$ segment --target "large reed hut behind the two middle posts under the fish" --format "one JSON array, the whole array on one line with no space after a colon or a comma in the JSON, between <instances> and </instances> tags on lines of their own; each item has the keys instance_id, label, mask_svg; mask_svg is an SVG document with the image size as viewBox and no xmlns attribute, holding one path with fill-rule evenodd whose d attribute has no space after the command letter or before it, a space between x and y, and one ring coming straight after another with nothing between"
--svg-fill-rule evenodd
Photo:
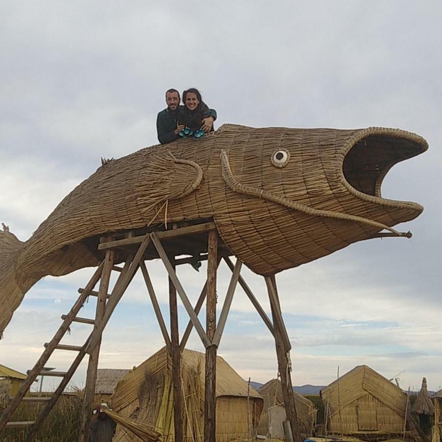
<instances>
[{"instance_id":1,"label":"large reed hut behind the two middle posts under the fish","mask_svg":"<svg viewBox=\"0 0 442 442\"><path fill-rule=\"evenodd\" d=\"M204 439L204 372L205 355L184 350L181 377L184 397L184 441ZM128 373L116 386L112 395L113 410L155 428L162 441L172 442L173 388L171 359L166 347L155 353ZM221 357L217 357L216 379L216 441L247 439L254 432L263 407L263 399L256 390ZM119 424L113 442L133 441Z\"/></svg>"}]
</instances>

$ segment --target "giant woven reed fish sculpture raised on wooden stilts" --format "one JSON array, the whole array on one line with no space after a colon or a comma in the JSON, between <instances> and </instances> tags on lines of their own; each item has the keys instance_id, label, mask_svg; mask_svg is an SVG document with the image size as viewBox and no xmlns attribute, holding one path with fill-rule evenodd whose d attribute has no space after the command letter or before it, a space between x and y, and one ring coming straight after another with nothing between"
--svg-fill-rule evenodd
<instances>
[{"instance_id":1,"label":"giant woven reed fish sculpture raised on wooden stilts","mask_svg":"<svg viewBox=\"0 0 442 442\"><path fill-rule=\"evenodd\" d=\"M41 277L98 264L107 232L212 218L251 270L270 275L417 217L381 197L394 164L428 148L398 129L255 129L226 124L113 160L69 193L26 242L0 232L0 331ZM95 243L96 244L96 243Z\"/></svg>"}]
</instances>

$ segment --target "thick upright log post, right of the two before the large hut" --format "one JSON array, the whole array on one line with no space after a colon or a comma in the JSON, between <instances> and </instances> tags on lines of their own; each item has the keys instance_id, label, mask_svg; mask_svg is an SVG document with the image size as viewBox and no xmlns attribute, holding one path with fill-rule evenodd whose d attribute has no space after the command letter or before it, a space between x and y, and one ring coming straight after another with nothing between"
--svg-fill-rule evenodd
<instances>
[{"instance_id":1,"label":"thick upright log post, right of the two before the large hut","mask_svg":"<svg viewBox=\"0 0 442 442\"><path fill-rule=\"evenodd\" d=\"M213 342L217 327L217 232L209 232L207 260L207 300L206 300L206 333ZM204 441L215 442L216 435L216 372L217 347L206 348L205 398L204 398Z\"/></svg>"}]
</instances>

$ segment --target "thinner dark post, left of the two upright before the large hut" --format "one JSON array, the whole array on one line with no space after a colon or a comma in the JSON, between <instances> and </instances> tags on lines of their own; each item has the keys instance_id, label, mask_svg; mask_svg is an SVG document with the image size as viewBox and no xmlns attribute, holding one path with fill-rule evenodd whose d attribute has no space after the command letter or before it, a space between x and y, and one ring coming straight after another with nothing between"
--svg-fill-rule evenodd
<instances>
[{"instance_id":1,"label":"thinner dark post, left of the two upright before the large hut","mask_svg":"<svg viewBox=\"0 0 442 442\"><path fill-rule=\"evenodd\" d=\"M169 258L175 270L174 257ZM169 276L169 307L170 307L170 343L172 359L172 385L173 385L173 419L175 427L175 442L183 441L183 396L181 389L181 350L178 333L178 304L176 289Z\"/></svg>"}]
</instances>

